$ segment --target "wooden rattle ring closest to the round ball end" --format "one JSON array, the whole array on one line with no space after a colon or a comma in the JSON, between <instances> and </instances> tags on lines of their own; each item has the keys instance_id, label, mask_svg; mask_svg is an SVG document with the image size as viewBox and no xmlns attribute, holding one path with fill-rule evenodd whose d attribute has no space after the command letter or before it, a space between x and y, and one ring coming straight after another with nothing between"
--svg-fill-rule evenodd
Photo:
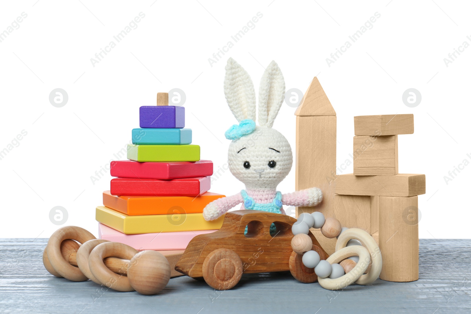
<instances>
[{"instance_id":1,"label":"wooden rattle ring closest to the round ball end","mask_svg":"<svg viewBox=\"0 0 471 314\"><path fill-rule=\"evenodd\" d=\"M138 250L131 248L129 245L118 242L104 242L98 244L90 253L89 269L93 276L101 282L106 288L112 288L118 291L133 291L129 279L124 274L127 273L130 263L126 263L121 274L116 274L108 269L103 262L104 258L117 257L131 259Z\"/></svg>"}]
</instances>

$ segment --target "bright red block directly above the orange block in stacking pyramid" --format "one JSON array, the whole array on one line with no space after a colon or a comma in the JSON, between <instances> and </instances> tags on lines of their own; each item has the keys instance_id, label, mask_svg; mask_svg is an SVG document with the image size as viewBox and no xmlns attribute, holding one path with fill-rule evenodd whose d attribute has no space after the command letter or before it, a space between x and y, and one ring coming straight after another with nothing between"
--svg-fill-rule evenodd
<instances>
[{"instance_id":1,"label":"bright red block directly above the orange block in stacking pyramid","mask_svg":"<svg viewBox=\"0 0 471 314\"><path fill-rule=\"evenodd\" d=\"M112 195L129 196L198 196L211 188L211 177L172 180L114 178L111 179Z\"/></svg>"}]
</instances>

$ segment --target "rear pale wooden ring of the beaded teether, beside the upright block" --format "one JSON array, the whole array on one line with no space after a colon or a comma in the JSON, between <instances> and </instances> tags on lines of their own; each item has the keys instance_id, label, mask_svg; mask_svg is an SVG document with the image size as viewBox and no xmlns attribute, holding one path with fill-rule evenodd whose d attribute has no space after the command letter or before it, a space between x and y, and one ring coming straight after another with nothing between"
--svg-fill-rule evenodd
<instances>
[{"instance_id":1,"label":"rear pale wooden ring of the beaded teether, beside the upright block","mask_svg":"<svg viewBox=\"0 0 471 314\"><path fill-rule=\"evenodd\" d=\"M355 283L362 285L373 283L376 279L378 279L382 269L381 250L371 235L369 235L365 230L358 228L350 228L342 232L339 236L339 239L337 239L335 250L337 251L345 248L347 242L349 242L351 239L356 239L361 242L361 244L370 253L372 261L371 269L368 274L362 275Z\"/></svg>"}]
</instances>

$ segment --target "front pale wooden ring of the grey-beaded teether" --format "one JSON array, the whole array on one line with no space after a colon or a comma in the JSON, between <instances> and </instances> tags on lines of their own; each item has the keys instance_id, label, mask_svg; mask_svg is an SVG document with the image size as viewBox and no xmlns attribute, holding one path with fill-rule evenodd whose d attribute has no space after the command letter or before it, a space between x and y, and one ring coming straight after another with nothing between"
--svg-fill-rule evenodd
<instances>
[{"instance_id":1,"label":"front pale wooden ring of the grey-beaded teether","mask_svg":"<svg viewBox=\"0 0 471 314\"><path fill-rule=\"evenodd\" d=\"M370 264L370 253L366 250L363 246L360 245L352 245L341 250L335 251L329 258L327 258L327 262L330 264L338 263L345 258L349 258L350 256L358 256L358 263L353 267L351 271L343 276L335 279L327 278L320 278L318 277L317 280L319 284L324 289L328 290L339 290L344 289L353 282L356 282L358 278L360 278L364 273L368 265Z\"/></svg>"}]
</instances>

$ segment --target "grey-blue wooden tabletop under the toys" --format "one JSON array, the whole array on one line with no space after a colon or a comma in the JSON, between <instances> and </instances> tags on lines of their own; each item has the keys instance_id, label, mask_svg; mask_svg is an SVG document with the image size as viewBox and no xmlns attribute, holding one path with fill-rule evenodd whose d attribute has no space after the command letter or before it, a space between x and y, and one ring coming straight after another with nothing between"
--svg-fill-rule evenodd
<instances>
[{"instance_id":1,"label":"grey-blue wooden tabletop under the toys","mask_svg":"<svg viewBox=\"0 0 471 314\"><path fill-rule=\"evenodd\" d=\"M244 275L215 291L182 276L155 296L54 277L42 265L46 242L0 239L0 313L471 313L471 240L421 240L416 282L334 292L284 272Z\"/></svg>"}]
</instances>

